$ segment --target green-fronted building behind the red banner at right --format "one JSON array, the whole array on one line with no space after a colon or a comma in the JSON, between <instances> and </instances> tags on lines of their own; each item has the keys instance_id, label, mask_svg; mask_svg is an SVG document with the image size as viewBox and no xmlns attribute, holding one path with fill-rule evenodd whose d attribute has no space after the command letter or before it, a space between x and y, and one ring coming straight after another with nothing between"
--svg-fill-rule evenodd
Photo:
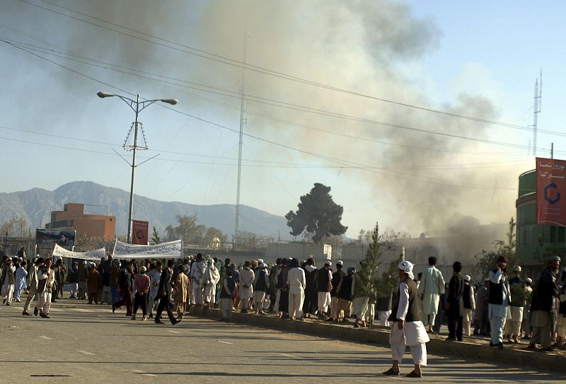
<instances>
[{"instance_id":1,"label":"green-fronted building behind the red banner at right","mask_svg":"<svg viewBox=\"0 0 566 384\"><path fill-rule=\"evenodd\" d=\"M522 265L541 265L550 255L565 255L566 227L536 223L536 170L519 176L516 209L516 254Z\"/></svg>"}]
</instances>

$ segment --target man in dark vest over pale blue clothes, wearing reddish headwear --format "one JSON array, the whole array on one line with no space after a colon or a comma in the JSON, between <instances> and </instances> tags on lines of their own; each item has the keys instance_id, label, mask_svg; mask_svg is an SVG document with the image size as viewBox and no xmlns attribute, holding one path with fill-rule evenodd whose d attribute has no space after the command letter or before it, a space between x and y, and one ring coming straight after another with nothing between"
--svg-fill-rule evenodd
<instances>
[{"instance_id":1,"label":"man in dark vest over pale blue clothes, wearing reddish headwear","mask_svg":"<svg viewBox=\"0 0 566 384\"><path fill-rule=\"evenodd\" d=\"M491 327L490 347L503 349L503 327L511 319L511 293L507 281L507 257L499 256L495 269L490 271L490 293L487 298Z\"/></svg>"}]
</instances>

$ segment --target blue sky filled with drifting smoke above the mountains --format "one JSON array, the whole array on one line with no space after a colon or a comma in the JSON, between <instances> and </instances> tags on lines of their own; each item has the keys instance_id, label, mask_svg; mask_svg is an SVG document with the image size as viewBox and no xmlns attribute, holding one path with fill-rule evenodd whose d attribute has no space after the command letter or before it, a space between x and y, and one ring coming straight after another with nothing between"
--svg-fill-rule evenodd
<instances>
[{"instance_id":1,"label":"blue sky filled with drifting smoke above the mountains","mask_svg":"<svg viewBox=\"0 0 566 384\"><path fill-rule=\"evenodd\" d=\"M149 150L136 194L235 204L243 116L241 204L284 216L322 182L350 237L376 221L446 235L515 216L541 71L536 155L553 143L566 157L562 1L0 8L0 192L76 180L129 190L134 112L98 91L179 100L139 114Z\"/></svg>"}]
</instances>

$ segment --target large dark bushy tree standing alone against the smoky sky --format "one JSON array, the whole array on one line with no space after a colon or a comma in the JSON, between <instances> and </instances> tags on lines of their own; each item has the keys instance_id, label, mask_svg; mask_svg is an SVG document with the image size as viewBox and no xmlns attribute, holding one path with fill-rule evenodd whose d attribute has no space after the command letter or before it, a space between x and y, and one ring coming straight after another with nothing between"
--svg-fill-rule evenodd
<instances>
[{"instance_id":1,"label":"large dark bushy tree standing alone against the smoky sky","mask_svg":"<svg viewBox=\"0 0 566 384\"><path fill-rule=\"evenodd\" d=\"M313 242L320 243L325 236L342 235L348 227L342 226L344 208L336 204L330 196L330 187L318 182L311 192L301 196L298 210L285 215L291 235L303 235Z\"/></svg>"}]
</instances>

